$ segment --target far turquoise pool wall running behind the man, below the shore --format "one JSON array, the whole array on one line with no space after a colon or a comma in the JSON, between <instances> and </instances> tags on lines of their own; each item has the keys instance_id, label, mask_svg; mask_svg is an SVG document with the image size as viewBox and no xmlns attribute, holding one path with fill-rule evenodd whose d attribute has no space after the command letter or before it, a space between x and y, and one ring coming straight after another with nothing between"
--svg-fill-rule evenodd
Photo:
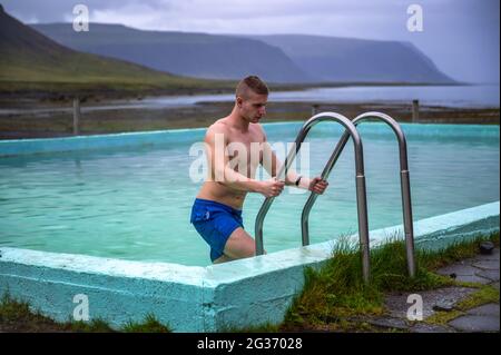
<instances>
[{"instance_id":1,"label":"far turquoise pool wall running behind the man, below the shore","mask_svg":"<svg viewBox=\"0 0 501 355\"><path fill-rule=\"evenodd\" d=\"M276 122L264 124L269 139L273 140L274 132L289 135L294 141L303 122ZM475 139L499 140L499 126L487 125L422 125L401 124L405 136L410 139L420 137L440 137L441 140L458 140L475 137ZM425 127L425 129L423 129ZM364 137L375 135L395 139L393 131L386 124L366 122L360 128ZM322 130L312 132L312 137L333 137L343 134L341 125L325 125ZM169 129L159 131L140 131L114 135L78 136L65 138L42 139L13 139L0 140L0 157L18 156L27 154L47 154L56 151L92 150L105 148L122 148L151 145L176 145L181 141L202 141L205 128L198 129Z\"/></svg>"}]
</instances>

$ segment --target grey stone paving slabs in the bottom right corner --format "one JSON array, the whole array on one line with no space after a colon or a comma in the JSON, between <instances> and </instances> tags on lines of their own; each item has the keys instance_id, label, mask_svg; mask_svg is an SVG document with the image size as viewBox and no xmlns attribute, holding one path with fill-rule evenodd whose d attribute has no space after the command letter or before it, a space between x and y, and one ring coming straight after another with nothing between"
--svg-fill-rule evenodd
<instances>
[{"instance_id":1,"label":"grey stone paving slabs in the bottom right corner","mask_svg":"<svg viewBox=\"0 0 501 355\"><path fill-rule=\"evenodd\" d=\"M480 252L480 250L479 250ZM438 274L449 276L458 282L489 285L499 290L500 250L478 253L474 257L459 260L436 270ZM463 286L448 286L436 289L419 292L422 297L423 319L409 321L409 294L389 293L384 297L387 313L382 316L362 316L358 323L371 324L386 332L410 333L493 333L500 328L499 299L480 306L464 308L461 302L478 292L478 288ZM453 315L452 317L450 315ZM450 319L441 324L430 322L433 316L448 316Z\"/></svg>"}]
</instances>

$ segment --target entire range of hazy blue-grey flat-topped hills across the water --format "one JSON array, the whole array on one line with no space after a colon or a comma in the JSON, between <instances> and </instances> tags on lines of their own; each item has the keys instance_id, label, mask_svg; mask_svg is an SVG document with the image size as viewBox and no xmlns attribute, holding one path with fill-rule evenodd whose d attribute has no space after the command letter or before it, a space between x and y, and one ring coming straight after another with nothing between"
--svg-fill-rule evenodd
<instances>
[{"instance_id":1,"label":"entire range of hazy blue-grey flat-topped hills across the water","mask_svg":"<svg viewBox=\"0 0 501 355\"><path fill-rule=\"evenodd\" d=\"M77 50L190 77L257 73L275 82L454 82L406 42L143 31L101 23L90 23L89 32L75 32L69 23L32 27Z\"/></svg>"}]
</instances>

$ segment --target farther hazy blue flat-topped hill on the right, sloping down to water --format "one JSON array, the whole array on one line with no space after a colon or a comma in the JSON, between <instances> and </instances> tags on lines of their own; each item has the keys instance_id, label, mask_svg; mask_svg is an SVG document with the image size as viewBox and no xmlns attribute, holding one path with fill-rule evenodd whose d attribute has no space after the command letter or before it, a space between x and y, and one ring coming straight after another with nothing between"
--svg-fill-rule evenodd
<instances>
[{"instance_id":1,"label":"farther hazy blue flat-topped hill on the right, sloping down to water","mask_svg":"<svg viewBox=\"0 0 501 355\"><path fill-rule=\"evenodd\" d=\"M254 36L321 81L453 83L410 42L322 36Z\"/></svg>"}]
</instances>

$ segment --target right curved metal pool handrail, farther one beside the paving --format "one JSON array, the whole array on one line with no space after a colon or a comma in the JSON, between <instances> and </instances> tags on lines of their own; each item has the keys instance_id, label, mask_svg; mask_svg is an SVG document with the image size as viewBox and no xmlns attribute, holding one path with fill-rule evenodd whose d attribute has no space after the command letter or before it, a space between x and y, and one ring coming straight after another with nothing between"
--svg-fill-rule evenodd
<instances>
[{"instance_id":1,"label":"right curved metal pool handrail, farther one beside the paving","mask_svg":"<svg viewBox=\"0 0 501 355\"><path fill-rule=\"evenodd\" d=\"M352 122L357 126L360 122L367 118L379 118L385 124L387 124L396 135L399 140L400 150L400 178L401 178L401 190L402 190L402 210L404 220L404 231L405 231L405 249L407 256L407 270L411 277L415 276L415 262L414 262L414 228L412 221L412 205L411 205L411 185L409 179L409 165L407 165L407 145L405 140L405 135L403 134L400 125L390 116L382 112L365 112L357 116ZM326 178L334 167L337 158L344 149L347 140L350 139L350 131L345 131L337 142L327 165L325 166L322 177ZM307 199L303 214L301 217L302 237L303 245L310 244L310 233L308 233L308 217L313 204L315 203L317 194L312 193Z\"/></svg>"}]
</instances>

